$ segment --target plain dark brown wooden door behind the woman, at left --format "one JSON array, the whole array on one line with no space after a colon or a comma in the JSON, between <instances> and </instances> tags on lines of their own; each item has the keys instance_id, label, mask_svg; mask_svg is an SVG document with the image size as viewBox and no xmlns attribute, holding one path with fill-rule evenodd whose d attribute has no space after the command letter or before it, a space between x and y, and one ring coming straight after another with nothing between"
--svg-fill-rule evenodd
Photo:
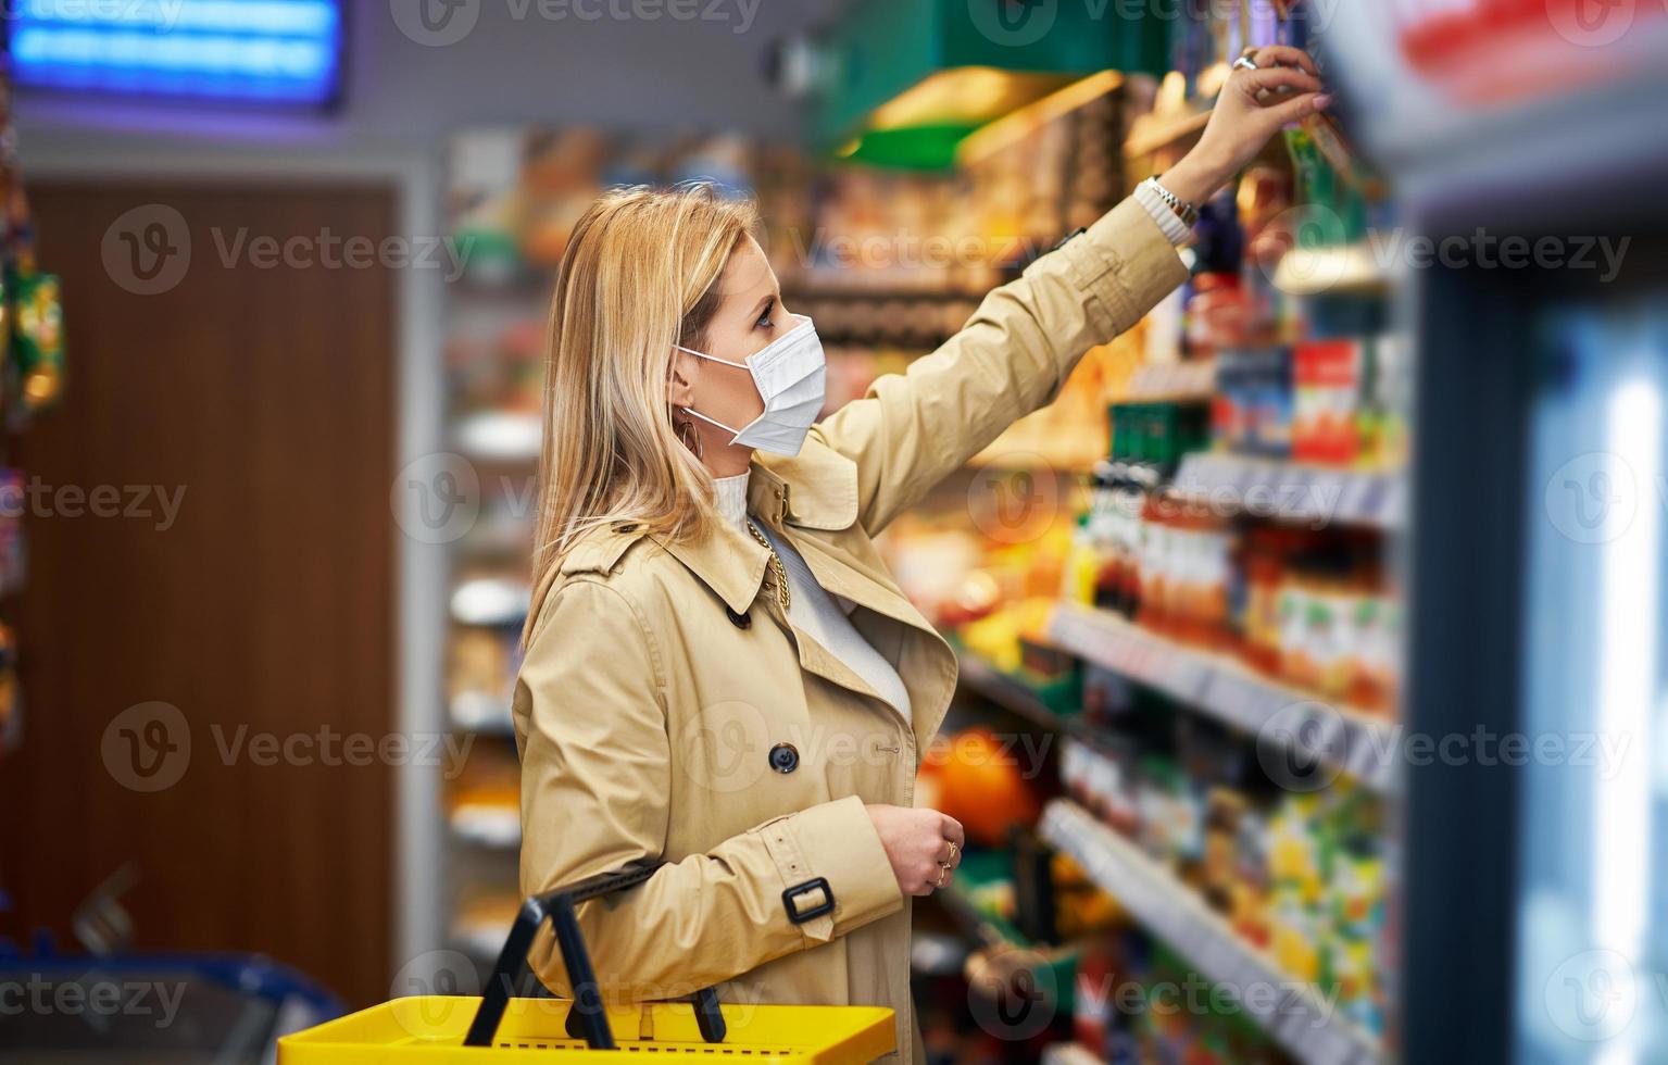
<instances>
[{"instance_id":1,"label":"plain dark brown wooden door behind the woman, at left","mask_svg":"<svg viewBox=\"0 0 1668 1065\"><path fill-rule=\"evenodd\" d=\"M394 194L58 182L32 202L70 369L10 447L40 487L0 928L70 941L130 868L138 948L264 951L382 1000L405 756L394 270L329 249L394 234Z\"/></svg>"}]
</instances>

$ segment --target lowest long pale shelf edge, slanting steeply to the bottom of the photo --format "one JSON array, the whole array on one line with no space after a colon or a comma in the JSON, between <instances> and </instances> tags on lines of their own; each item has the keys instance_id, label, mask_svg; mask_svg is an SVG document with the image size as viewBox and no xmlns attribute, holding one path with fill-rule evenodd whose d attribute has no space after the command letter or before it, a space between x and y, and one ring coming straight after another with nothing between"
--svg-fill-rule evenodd
<instances>
[{"instance_id":1,"label":"lowest long pale shelf edge, slanting steeply to the bottom of the photo","mask_svg":"<svg viewBox=\"0 0 1668 1065\"><path fill-rule=\"evenodd\" d=\"M1309 985L1299 985L1259 950L1234 935L1198 893L1176 880L1091 813L1054 800L1042 815L1042 836L1088 870L1089 876L1164 940L1201 975L1233 988L1248 1018L1301 1062L1358 1065L1378 1062L1371 1035L1338 1017ZM1278 995L1249 993L1271 987Z\"/></svg>"}]
</instances>

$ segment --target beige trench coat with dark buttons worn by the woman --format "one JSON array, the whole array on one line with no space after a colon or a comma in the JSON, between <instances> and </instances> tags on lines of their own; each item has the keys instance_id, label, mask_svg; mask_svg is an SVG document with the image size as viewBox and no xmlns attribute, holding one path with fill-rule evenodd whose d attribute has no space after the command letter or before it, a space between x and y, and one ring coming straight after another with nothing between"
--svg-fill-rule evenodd
<instances>
[{"instance_id":1,"label":"beige trench coat with dark buttons worn by the woman","mask_svg":"<svg viewBox=\"0 0 1668 1065\"><path fill-rule=\"evenodd\" d=\"M852 621L897 668L912 719L787 624L767 553L742 532L677 544L615 527L565 556L515 684L520 890L667 863L580 911L604 997L717 985L734 1005L891 1007L899 1058L919 1060L909 900L864 803L912 805L956 656L872 538L1184 277L1124 200L991 292L936 354L814 427L797 457L754 462L751 512L857 604ZM791 771L786 751L772 765L781 744L797 755ZM801 913L832 910L794 923L792 888ZM549 933L534 968L565 995Z\"/></svg>"}]
</instances>

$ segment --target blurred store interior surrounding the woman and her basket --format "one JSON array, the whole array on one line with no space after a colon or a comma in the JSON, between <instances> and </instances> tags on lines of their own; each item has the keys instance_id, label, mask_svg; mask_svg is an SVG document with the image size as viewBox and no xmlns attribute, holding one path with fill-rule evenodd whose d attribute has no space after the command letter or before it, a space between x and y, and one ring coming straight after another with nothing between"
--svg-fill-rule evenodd
<instances>
[{"instance_id":1,"label":"blurred store interior surrounding the woman and her basket","mask_svg":"<svg viewBox=\"0 0 1668 1065\"><path fill-rule=\"evenodd\" d=\"M919 788L972 841L916 908L929 1052L1668 1053L1668 5L60 0L5 32L0 1053L264 1060L479 992L519 903L544 315L599 190L757 199L832 411L1276 42L1338 105L886 532L962 659Z\"/></svg>"}]
</instances>

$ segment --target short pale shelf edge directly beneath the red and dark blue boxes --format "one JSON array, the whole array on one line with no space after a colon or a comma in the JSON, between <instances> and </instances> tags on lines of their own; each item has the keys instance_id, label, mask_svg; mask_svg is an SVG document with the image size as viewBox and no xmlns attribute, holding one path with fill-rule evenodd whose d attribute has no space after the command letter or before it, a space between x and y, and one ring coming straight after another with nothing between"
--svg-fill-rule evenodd
<instances>
[{"instance_id":1,"label":"short pale shelf edge directly beneath the red and dark blue boxes","mask_svg":"<svg viewBox=\"0 0 1668 1065\"><path fill-rule=\"evenodd\" d=\"M1181 461L1174 484L1183 496L1211 507L1314 527L1396 529L1406 511L1406 479L1398 472L1196 452Z\"/></svg>"}]
</instances>

